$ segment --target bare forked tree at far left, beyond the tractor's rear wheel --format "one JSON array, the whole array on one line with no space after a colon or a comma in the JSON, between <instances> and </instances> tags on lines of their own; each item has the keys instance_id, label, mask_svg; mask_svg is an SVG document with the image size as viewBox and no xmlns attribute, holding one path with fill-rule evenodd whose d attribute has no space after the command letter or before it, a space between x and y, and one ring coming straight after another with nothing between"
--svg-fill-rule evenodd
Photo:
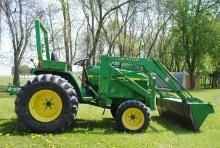
<instances>
[{"instance_id":1,"label":"bare forked tree at far left, beyond the tractor's rear wheel","mask_svg":"<svg viewBox=\"0 0 220 148\"><path fill-rule=\"evenodd\" d=\"M15 69L13 84L17 85L20 81L19 66L34 28L34 20L42 15L42 11L36 9L34 1L26 0L3 0L1 8L11 35Z\"/></svg>"}]
</instances>

